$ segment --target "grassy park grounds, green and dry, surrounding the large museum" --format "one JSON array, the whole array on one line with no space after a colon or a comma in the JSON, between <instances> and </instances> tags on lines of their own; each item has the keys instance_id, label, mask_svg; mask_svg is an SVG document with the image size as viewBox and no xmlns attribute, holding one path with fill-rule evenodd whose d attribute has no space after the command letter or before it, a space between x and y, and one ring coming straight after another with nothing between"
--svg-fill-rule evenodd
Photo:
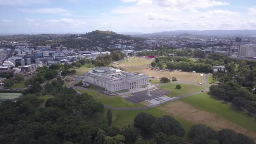
<instances>
[{"instance_id":1,"label":"grassy park grounds, green and dry, surrounding the large museum","mask_svg":"<svg viewBox=\"0 0 256 144\"><path fill-rule=\"evenodd\" d=\"M128 124L133 125L133 119L138 113L147 112L156 117L163 115L175 117L186 132L194 124L205 124L216 131L229 128L238 133L243 133L256 141L256 122L254 117L238 111L231 104L223 103L222 100L208 95L209 86L213 84L211 75L204 74L200 76L200 73L192 72L151 70L149 66L152 61L152 59L131 57L129 61L120 61L112 64L112 66L121 67L127 72L138 72L153 77L149 79L150 85L155 85L155 88L168 91L169 93L165 96L173 98L170 101L163 102L163 104L150 106L149 101L133 103L129 101L128 97L131 95L127 94L127 92L118 93L119 95L117 96L108 96L94 88L76 87L75 89L79 93L90 94L96 101L104 104L106 109L112 109L113 126L117 128L123 128ZM88 68L84 65L76 69L78 72L76 75L81 76L91 69L93 68ZM161 77L168 77L169 79L176 77L178 81L162 83L160 81ZM68 83L66 86L71 84L71 82L65 83ZM203 85L199 83L203 83ZM181 89L176 88L178 84L181 85ZM150 92L153 93L153 89L150 89ZM184 139L185 141L191 141L187 133Z\"/></svg>"}]
</instances>

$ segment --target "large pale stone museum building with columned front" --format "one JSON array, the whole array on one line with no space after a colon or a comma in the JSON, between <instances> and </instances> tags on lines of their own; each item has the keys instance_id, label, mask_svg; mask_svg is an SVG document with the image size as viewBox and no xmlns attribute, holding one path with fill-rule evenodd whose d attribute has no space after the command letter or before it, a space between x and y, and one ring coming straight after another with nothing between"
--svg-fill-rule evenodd
<instances>
[{"instance_id":1,"label":"large pale stone museum building with columned front","mask_svg":"<svg viewBox=\"0 0 256 144\"><path fill-rule=\"evenodd\" d=\"M124 72L112 67L97 67L84 75L83 83L91 83L107 91L132 90L147 85L149 76L134 72Z\"/></svg>"}]
</instances>

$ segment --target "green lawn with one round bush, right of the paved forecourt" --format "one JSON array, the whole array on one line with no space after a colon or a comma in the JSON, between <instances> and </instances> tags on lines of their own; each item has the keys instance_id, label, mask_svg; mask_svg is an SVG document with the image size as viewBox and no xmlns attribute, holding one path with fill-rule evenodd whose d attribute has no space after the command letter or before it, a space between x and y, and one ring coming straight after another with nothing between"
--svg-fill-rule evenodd
<instances>
[{"instance_id":1,"label":"green lawn with one round bush, right of the paved forecourt","mask_svg":"<svg viewBox=\"0 0 256 144\"><path fill-rule=\"evenodd\" d=\"M167 94L166 96L175 97L175 96L182 96L189 93L196 93L199 91L203 91L205 88L201 87L200 85L192 85L186 83L180 83L181 89L176 89L177 84L170 84L170 85L160 85L160 88L166 91L170 91L171 93Z\"/></svg>"}]
</instances>

